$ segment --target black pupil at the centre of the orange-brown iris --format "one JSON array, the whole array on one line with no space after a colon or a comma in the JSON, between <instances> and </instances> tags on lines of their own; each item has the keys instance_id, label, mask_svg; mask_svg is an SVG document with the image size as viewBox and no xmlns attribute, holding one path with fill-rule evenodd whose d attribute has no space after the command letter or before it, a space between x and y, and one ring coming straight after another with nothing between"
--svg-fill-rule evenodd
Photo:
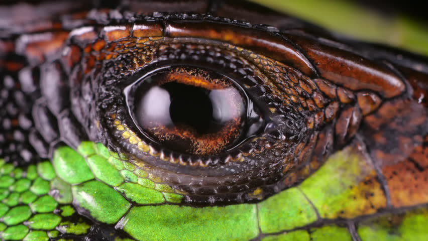
<instances>
[{"instance_id":1,"label":"black pupil at the centre of the orange-brown iris","mask_svg":"<svg viewBox=\"0 0 428 241\"><path fill-rule=\"evenodd\" d=\"M210 90L177 82L161 87L170 94L169 114L174 125L194 128L198 134L218 131L217 120L212 115Z\"/></svg>"}]
</instances>

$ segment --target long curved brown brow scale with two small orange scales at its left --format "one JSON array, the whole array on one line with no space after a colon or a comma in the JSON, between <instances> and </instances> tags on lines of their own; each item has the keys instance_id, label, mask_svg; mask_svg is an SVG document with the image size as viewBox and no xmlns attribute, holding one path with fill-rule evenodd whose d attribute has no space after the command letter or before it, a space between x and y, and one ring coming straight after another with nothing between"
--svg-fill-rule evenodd
<instances>
[{"instance_id":1,"label":"long curved brown brow scale with two small orange scales at its left","mask_svg":"<svg viewBox=\"0 0 428 241\"><path fill-rule=\"evenodd\" d=\"M253 50L267 57L290 64L308 76L315 76L315 71L304 55L296 51L289 41L275 32L250 28L250 26L231 25L230 23L214 23L212 21L188 20L180 22L166 20L165 28L158 23L142 23L123 26L107 26L103 32L106 40L118 41L133 36L147 37L194 37L218 40ZM129 31L131 30L131 34ZM270 31L272 31L270 29Z\"/></svg>"}]
</instances>

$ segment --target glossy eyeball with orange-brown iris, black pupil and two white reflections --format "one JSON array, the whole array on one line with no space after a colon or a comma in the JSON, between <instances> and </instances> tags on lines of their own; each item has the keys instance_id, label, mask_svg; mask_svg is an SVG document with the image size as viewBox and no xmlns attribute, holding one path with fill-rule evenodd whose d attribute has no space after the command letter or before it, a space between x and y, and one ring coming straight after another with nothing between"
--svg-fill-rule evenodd
<instances>
[{"instance_id":1,"label":"glossy eyeball with orange-brown iris, black pupil and two white reflections","mask_svg":"<svg viewBox=\"0 0 428 241\"><path fill-rule=\"evenodd\" d=\"M263 126L232 78L203 68L165 67L126 88L134 123L172 151L213 155L233 149Z\"/></svg>"}]
</instances>

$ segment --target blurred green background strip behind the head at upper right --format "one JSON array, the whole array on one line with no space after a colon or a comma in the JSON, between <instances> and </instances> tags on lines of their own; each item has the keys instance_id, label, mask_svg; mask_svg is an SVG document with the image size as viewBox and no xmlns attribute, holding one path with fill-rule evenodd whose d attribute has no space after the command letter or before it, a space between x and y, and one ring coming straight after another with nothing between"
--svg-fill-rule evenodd
<instances>
[{"instance_id":1,"label":"blurred green background strip behind the head at upper right","mask_svg":"<svg viewBox=\"0 0 428 241\"><path fill-rule=\"evenodd\" d=\"M374 7L368 1L362 4L362 1L356 0L251 1L356 39L383 43L428 56L428 21L415 16L412 11L391 11L387 0L383 1L388 5L384 7L382 3ZM408 0L407 4L414 2ZM428 9L425 10L428 15Z\"/></svg>"}]
</instances>

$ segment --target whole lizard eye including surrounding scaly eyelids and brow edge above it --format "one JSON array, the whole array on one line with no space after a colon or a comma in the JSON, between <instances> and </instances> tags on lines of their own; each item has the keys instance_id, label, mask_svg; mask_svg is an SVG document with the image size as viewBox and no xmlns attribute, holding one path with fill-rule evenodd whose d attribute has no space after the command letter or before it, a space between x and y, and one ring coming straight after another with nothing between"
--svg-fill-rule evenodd
<instances>
[{"instance_id":1,"label":"whole lizard eye including surrounding scaly eyelids and brow edge above it","mask_svg":"<svg viewBox=\"0 0 428 241\"><path fill-rule=\"evenodd\" d=\"M70 77L88 138L190 205L261 200L300 182L322 129L317 106L328 104L312 101L311 69L301 56L281 57L278 35L202 23L225 34L199 36L205 27L172 20L167 32L144 21L101 30L106 38L86 48Z\"/></svg>"}]
</instances>

